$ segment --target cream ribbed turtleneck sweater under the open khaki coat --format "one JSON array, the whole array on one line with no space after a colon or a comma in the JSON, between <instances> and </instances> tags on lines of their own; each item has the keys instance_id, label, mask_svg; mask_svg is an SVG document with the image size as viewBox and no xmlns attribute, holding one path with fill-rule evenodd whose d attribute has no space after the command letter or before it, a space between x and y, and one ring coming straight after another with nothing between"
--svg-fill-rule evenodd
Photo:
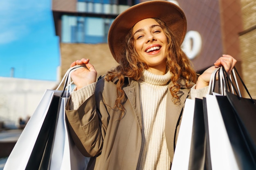
<instances>
[{"instance_id":1,"label":"cream ribbed turtleneck sweater under the open khaki coat","mask_svg":"<svg viewBox=\"0 0 256 170\"><path fill-rule=\"evenodd\" d=\"M166 100L170 72L152 74L144 70L139 81L142 142L137 170L169 170L171 160L164 135Z\"/></svg>"}]
</instances>

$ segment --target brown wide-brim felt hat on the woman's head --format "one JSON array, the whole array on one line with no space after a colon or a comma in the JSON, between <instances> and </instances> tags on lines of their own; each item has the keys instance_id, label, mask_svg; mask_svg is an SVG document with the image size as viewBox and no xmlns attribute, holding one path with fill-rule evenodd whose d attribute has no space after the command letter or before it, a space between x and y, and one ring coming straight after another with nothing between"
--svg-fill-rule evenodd
<instances>
[{"instance_id":1,"label":"brown wide-brim felt hat on the woman's head","mask_svg":"<svg viewBox=\"0 0 256 170\"><path fill-rule=\"evenodd\" d=\"M108 46L114 59L119 62L125 47L125 37L130 29L140 20L158 18L173 32L182 44L186 35L186 16L182 9L172 2L152 0L136 4L119 14L110 26Z\"/></svg>"}]
</instances>

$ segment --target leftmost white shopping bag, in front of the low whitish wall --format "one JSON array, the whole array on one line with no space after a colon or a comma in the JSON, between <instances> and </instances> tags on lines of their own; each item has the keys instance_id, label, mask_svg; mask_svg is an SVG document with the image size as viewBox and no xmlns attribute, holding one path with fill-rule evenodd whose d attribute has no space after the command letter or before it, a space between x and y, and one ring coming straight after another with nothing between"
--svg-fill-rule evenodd
<instances>
[{"instance_id":1,"label":"leftmost white shopping bag, in front of the low whitish wall","mask_svg":"<svg viewBox=\"0 0 256 170\"><path fill-rule=\"evenodd\" d=\"M53 90L45 91L43 98L39 102L38 107L27 122L27 125L23 129L20 137L18 138L15 146L13 147L13 150L11 151L7 162L5 163L4 170L25 170L29 161L29 157L40 133L41 127L44 123L45 118L47 118L47 113L53 113L56 111L56 108L58 108L58 98L55 98L54 96L60 96L61 93L62 92L57 92ZM50 116L52 115L49 114L47 120L51 119ZM42 138L44 137L44 131L45 129L43 129L41 133ZM42 157L42 153L38 153L38 157ZM36 158L37 157L35 157L35 159Z\"/></svg>"}]
</instances>

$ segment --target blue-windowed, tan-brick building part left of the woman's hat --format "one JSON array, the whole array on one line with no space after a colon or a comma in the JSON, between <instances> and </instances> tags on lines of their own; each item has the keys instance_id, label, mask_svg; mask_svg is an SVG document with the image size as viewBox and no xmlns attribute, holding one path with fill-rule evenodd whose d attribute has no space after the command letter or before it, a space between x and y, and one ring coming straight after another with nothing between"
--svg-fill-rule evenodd
<instances>
[{"instance_id":1,"label":"blue-windowed, tan-brick building part left of the woman's hat","mask_svg":"<svg viewBox=\"0 0 256 170\"><path fill-rule=\"evenodd\" d=\"M136 0L52 0L56 35L60 37L61 77L70 63L88 58L98 75L117 65L107 44L108 29Z\"/></svg>"}]
</instances>

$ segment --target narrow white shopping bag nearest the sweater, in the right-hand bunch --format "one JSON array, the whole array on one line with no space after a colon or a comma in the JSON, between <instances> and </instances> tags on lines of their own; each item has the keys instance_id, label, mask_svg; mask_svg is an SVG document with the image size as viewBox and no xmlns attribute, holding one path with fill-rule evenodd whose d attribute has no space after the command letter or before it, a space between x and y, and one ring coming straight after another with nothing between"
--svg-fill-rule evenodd
<instances>
[{"instance_id":1,"label":"narrow white shopping bag nearest the sweater, in the right-hand bunch","mask_svg":"<svg viewBox=\"0 0 256 170\"><path fill-rule=\"evenodd\" d=\"M187 170L191 147L195 100L186 99L171 170Z\"/></svg>"}]
</instances>

